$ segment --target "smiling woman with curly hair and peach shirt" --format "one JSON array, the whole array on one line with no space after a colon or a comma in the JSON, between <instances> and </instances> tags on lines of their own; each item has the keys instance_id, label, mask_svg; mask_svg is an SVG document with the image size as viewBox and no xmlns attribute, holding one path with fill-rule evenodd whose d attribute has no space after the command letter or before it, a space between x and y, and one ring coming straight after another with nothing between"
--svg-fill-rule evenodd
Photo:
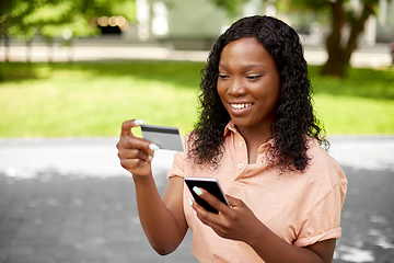
<instances>
[{"instance_id":1,"label":"smiling woman with curly hair and peach shirt","mask_svg":"<svg viewBox=\"0 0 394 263\"><path fill-rule=\"evenodd\" d=\"M177 152L161 199L151 174L155 145L123 125L121 165L132 173L141 225L160 254L188 228L200 262L331 262L340 237L347 181L320 146L297 33L269 16L235 22L202 71L200 117ZM217 178L230 206L201 188L219 210L192 199L184 176Z\"/></svg>"}]
</instances>

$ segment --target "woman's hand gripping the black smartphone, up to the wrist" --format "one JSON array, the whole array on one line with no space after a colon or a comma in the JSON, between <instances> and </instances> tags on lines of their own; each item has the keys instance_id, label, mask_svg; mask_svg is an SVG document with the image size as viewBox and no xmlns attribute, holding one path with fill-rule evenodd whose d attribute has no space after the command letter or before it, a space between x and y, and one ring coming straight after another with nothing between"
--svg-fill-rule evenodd
<instances>
[{"instance_id":1,"label":"woman's hand gripping the black smartphone, up to the wrist","mask_svg":"<svg viewBox=\"0 0 394 263\"><path fill-rule=\"evenodd\" d=\"M200 190L202 193L199 196L219 211L219 214L207 211L193 202L192 207L201 222L211 227L222 238L246 243L257 238L255 237L258 232L256 229L262 226L262 222L241 199L227 195L230 205L227 206L204 188Z\"/></svg>"}]
</instances>

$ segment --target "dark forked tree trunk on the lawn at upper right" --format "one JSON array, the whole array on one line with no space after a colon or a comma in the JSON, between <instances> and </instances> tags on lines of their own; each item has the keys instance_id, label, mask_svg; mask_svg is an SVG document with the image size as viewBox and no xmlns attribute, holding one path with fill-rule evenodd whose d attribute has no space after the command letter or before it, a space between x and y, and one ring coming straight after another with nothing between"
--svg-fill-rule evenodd
<instances>
[{"instance_id":1,"label":"dark forked tree trunk on the lawn at upper right","mask_svg":"<svg viewBox=\"0 0 394 263\"><path fill-rule=\"evenodd\" d=\"M344 78L346 76L347 68L350 65L351 54L357 48L358 37L363 31L368 18L375 13L378 4L379 0L363 2L363 9L360 16L349 22L350 36L346 42L346 46L343 47L341 43L344 43L344 41L341 30L347 22L348 14L344 10L344 0L337 0L336 2L331 3L333 12L333 31L326 42L328 59L322 68L322 75L338 78Z\"/></svg>"}]
</instances>

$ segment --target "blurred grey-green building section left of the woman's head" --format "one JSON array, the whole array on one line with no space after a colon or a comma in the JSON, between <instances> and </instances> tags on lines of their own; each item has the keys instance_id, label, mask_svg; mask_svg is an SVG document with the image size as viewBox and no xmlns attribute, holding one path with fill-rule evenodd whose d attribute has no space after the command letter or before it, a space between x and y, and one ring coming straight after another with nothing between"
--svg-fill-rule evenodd
<instances>
[{"instance_id":1,"label":"blurred grey-green building section left of the woman's head","mask_svg":"<svg viewBox=\"0 0 394 263\"><path fill-rule=\"evenodd\" d=\"M136 0L137 24L129 41L161 42L175 49L210 49L228 23L225 11L209 0Z\"/></svg>"}]
</instances>

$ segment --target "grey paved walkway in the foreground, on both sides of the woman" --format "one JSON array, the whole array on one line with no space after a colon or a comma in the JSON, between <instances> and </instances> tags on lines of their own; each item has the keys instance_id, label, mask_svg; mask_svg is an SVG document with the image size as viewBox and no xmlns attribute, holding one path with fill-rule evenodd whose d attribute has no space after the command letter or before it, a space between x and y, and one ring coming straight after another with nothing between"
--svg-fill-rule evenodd
<instances>
[{"instance_id":1,"label":"grey paved walkway in the foreground, on both sides of the woman","mask_svg":"<svg viewBox=\"0 0 394 263\"><path fill-rule=\"evenodd\" d=\"M0 139L0 263L197 262L149 245L116 138ZM333 137L349 181L335 261L394 262L394 137ZM153 162L160 193L173 152Z\"/></svg>"}]
</instances>

